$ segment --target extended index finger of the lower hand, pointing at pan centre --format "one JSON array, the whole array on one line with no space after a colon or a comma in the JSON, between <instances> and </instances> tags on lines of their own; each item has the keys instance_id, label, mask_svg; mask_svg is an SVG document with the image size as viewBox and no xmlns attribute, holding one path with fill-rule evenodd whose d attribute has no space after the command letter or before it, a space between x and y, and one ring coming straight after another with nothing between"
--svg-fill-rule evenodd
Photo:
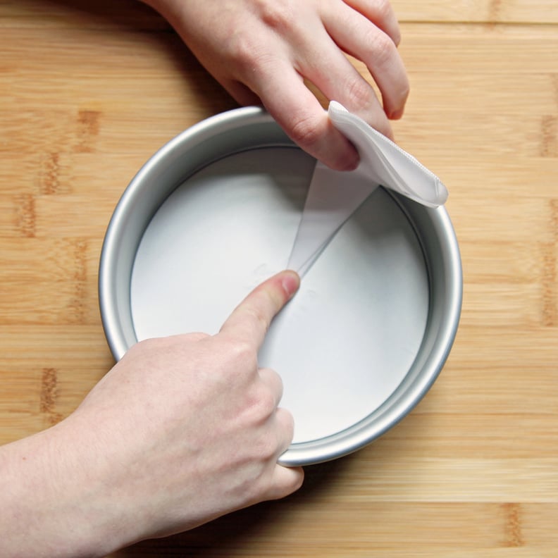
<instances>
[{"instance_id":1,"label":"extended index finger of the lower hand, pointing at pan centre","mask_svg":"<svg viewBox=\"0 0 558 558\"><path fill-rule=\"evenodd\" d=\"M259 348L271 321L297 292L300 278L295 271L281 271L258 285L227 318L221 333L230 333Z\"/></svg>"}]
</instances>

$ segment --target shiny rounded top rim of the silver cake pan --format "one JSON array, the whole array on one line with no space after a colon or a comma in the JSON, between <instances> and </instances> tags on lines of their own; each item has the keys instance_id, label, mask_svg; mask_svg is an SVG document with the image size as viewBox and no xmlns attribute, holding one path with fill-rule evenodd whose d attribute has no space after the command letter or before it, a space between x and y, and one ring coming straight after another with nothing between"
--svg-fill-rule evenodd
<instances>
[{"instance_id":1,"label":"shiny rounded top rim of the silver cake pan","mask_svg":"<svg viewBox=\"0 0 558 558\"><path fill-rule=\"evenodd\" d=\"M142 192L142 189L146 188L145 180L149 177L149 173L151 173L154 168L163 164L168 156L173 154L174 151L183 151L185 142L199 140L200 136L211 137L216 130L221 131L223 128L226 128L227 130L234 130L235 128L238 128L238 126L244 127L251 123L264 123L267 125L275 124L271 116L259 107L233 109L233 111L221 113L206 120L202 120L200 123L197 123L191 128L181 132L170 142L163 145L161 149L156 151L156 153L151 156L146 163L144 163L144 166L140 168L140 171L138 171L135 177L132 178L130 184L120 197L116 209L113 212L113 216L111 217L109 227L106 231L99 266L99 305L101 307L101 320L103 322L107 341L109 342L109 347L111 347L111 352L113 352L113 356L115 356L116 359L120 359L130 345L125 342L122 336L115 337L114 335L115 329L120 330L121 316L116 315L116 305L112 303L115 294L113 292L113 281L111 278L111 274L113 273L111 261L116 251L116 244L118 244L119 233L123 226L123 219L125 218L125 214L130 211L130 204L133 202L134 197L139 195L138 192ZM288 147L296 147L294 143L286 137L286 135L282 140L279 140L279 144L283 143ZM271 141L269 144L279 145L278 140ZM266 144L261 144L259 147L266 147ZM228 154L223 154L223 157L227 155ZM211 164L211 161L200 162L199 168L202 168L207 164ZM190 175L191 174L192 173L190 173ZM185 176L184 180L186 179L187 176ZM178 183L171 186L169 191L172 192L177 186ZM157 209L158 207L154 208L153 213L155 213ZM447 360L447 356L450 354L459 325L462 302L462 268L457 237L446 209L444 207L435 210L428 208L424 209L425 211L438 212L438 218L442 219L445 223L444 226L440 226L442 226L442 230L445 232L445 242L447 243L450 259L449 266L452 268L452 274L450 275L450 278L452 278L452 285L450 285L452 294L449 295L452 304L450 315L449 317L446 316L450 323L446 328L445 341L442 342L441 346L438 346L438 358L433 364L434 368L430 369L428 373L425 373L425 381L421 383L419 387L416 387L410 394L407 394L407 397L404 398L406 405L399 404L396 409L390 409L390 414L384 417L381 424L376 425L377 428L371 428L371 424L366 423L369 418L368 416L366 419L363 419L363 421L360 421L359 424L361 424L361 428L358 428L359 424L357 424L347 429L354 429L354 432L352 431L350 433L348 441L347 430L344 430L333 436L321 438L320 440L310 440L307 442L293 444L287 452L280 457L281 464L287 466L316 464L322 461L336 459L338 457L342 457L343 455L352 453L355 450L359 450L364 445L367 445L380 435L383 435L383 433L392 428L392 426L395 426L395 424L401 421L404 416L407 416L409 412L416 407L416 404L423 399L424 395L426 395L430 387L438 378L445 361ZM147 228L148 224L149 221L144 223L143 230ZM447 237L448 233L449 238ZM138 244L140 240L141 236L137 241ZM132 270L130 268L130 276L131 271ZM128 290L128 296L129 294L130 292Z\"/></svg>"}]
</instances>

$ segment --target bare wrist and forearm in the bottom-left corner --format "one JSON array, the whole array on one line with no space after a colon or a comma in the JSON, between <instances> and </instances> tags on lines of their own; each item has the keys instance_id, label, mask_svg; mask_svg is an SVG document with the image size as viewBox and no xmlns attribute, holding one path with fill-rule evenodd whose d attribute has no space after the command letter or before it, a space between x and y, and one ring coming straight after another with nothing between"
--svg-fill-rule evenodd
<instances>
[{"instance_id":1,"label":"bare wrist and forearm in the bottom-left corner","mask_svg":"<svg viewBox=\"0 0 558 558\"><path fill-rule=\"evenodd\" d=\"M126 539L73 419L0 448L0 555L101 557Z\"/></svg>"}]
</instances>

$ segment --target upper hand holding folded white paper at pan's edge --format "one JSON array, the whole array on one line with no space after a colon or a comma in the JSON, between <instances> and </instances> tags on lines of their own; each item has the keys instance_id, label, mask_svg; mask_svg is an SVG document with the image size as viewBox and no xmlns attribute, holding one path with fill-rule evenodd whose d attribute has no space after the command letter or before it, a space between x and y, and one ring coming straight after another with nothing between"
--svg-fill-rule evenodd
<instances>
[{"instance_id":1,"label":"upper hand holding folded white paper at pan's edge","mask_svg":"<svg viewBox=\"0 0 558 558\"><path fill-rule=\"evenodd\" d=\"M387 0L144 0L243 105L263 104L302 149L336 170L359 156L304 81L392 137L409 93ZM364 62L382 97L349 62Z\"/></svg>"}]
</instances>

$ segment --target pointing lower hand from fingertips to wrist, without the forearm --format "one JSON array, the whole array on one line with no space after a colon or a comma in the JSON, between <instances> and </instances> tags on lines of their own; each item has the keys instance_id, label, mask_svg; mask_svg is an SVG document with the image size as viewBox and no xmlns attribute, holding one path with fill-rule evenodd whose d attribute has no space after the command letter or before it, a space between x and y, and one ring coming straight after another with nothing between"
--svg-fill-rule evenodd
<instances>
[{"instance_id":1,"label":"pointing lower hand from fingertips to wrist, without the forearm","mask_svg":"<svg viewBox=\"0 0 558 558\"><path fill-rule=\"evenodd\" d=\"M185 531L302 484L302 468L277 463L293 435L292 415L278 408L280 376L257 362L273 317L298 287L296 273L278 273L217 335L138 343L70 417L82 435L89 429L110 473L99 490L108 489L104 514L133 520L125 543Z\"/></svg>"}]
</instances>

